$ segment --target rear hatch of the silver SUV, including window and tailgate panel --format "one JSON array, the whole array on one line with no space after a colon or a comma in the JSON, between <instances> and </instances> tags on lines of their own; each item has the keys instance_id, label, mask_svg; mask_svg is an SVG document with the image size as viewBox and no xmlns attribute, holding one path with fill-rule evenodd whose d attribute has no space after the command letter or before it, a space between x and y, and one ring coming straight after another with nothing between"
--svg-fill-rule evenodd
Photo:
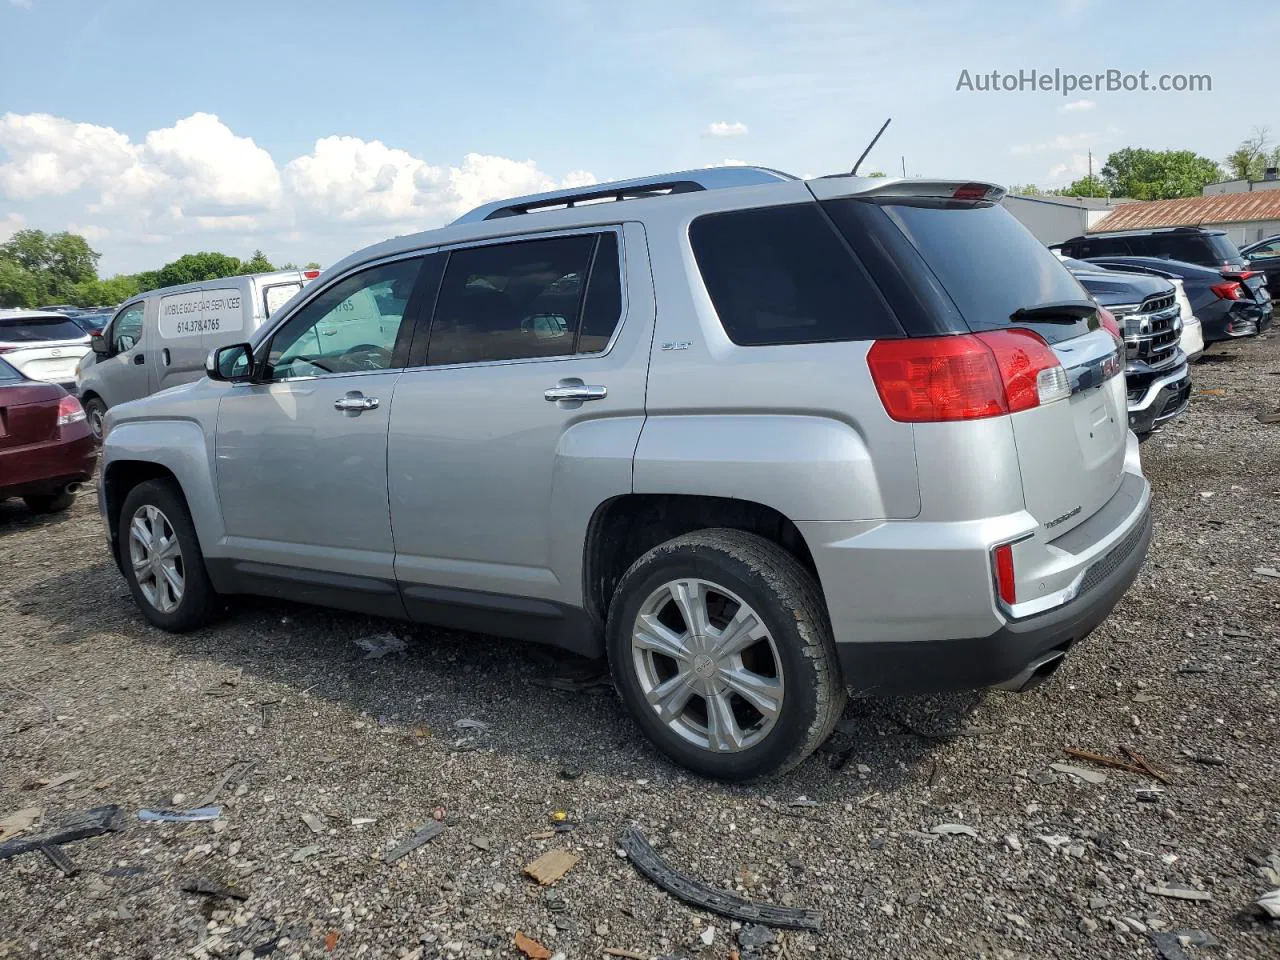
<instances>
[{"instance_id":1,"label":"rear hatch of the silver SUV, including window and tailgate panel","mask_svg":"<svg viewBox=\"0 0 1280 960\"><path fill-rule=\"evenodd\" d=\"M823 200L822 182L812 186ZM874 257L869 243L896 262L918 257L923 280L911 296L933 287L933 312L960 319L952 332L1029 330L1057 356L1069 394L1010 416L1027 509L1057 536L1120 488L1129 434L1121 348L1089 294L1012 215L987 198L998 198L998 188L980 187L906 180L823 207L864 259Z\"/></svg>"}]
</instances>

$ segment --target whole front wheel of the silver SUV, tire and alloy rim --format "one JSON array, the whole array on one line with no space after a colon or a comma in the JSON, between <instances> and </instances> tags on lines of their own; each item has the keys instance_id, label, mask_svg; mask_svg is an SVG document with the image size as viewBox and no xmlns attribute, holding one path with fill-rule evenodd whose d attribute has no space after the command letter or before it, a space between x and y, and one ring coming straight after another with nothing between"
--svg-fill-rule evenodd
<instances>
[{"instance_id":1,"label":"whole front wheel of the silver SUV, tire and alloy rim","mask_svg":"<svg viewBox=\"0 0 1280 960\"><path fill-rule=\"evenodd\" d=\"M211 622L218 594L177 484L134 486L120 509L120 558L129 591L151 623L175 634Z\"/></svg>"}]
</instances>

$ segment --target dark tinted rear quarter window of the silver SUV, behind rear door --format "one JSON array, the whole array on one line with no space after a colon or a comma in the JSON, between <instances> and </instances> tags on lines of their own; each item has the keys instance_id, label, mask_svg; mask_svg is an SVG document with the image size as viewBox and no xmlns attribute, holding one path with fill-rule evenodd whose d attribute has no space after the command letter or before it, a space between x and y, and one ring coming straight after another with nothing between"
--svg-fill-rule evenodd
<instances>
[{"instance_id":1,"label":"dark tinted rear quarter window of the silver SUV, behind rear door","mask_svg":"<svg viewBox=\"0 0 1280 960\"><path fill-rule=\"evenodd\" d=\"M689 239L733 343L902 335L817 204L700 216L690 225Z\"/></svg>"}]
</instances>

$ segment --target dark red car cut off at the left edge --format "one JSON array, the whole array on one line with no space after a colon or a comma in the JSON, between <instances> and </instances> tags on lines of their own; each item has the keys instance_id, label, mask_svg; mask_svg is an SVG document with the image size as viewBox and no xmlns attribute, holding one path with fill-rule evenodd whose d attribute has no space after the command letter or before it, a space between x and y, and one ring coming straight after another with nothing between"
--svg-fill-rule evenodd
<instances>
[{"instance_id":1,"label":"dark red car cut off at the left edge","mask_svg":"<svg viewBox=\"0 0 1280 960\"><path fill-rule=\"evenodd\" d=\"M67 509L96 462L79 401L0 360L0 500L22 497L36 513Z\"/></svg>"}]
</instances>

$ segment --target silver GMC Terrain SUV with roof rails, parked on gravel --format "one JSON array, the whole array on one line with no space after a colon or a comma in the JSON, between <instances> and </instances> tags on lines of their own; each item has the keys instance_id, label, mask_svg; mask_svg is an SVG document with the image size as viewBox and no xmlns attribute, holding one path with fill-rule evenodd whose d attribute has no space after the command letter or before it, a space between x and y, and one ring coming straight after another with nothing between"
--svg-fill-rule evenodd
<instances>
[{"instance_id":1,"label":"silver GMC Terrain SUV with roof rails, parked on gravel","mask_svg":"<svg viewBox=\"0 0 1280 960\"><path fill-rule=\"evenodd\" d=\"M110 411L111 553L165 630L246 593L605 654L726 780L849 691L1033 686L1151 493L1123 340L1001 195L695 170L364 250Z\"/></svg>"}]
</instances>

